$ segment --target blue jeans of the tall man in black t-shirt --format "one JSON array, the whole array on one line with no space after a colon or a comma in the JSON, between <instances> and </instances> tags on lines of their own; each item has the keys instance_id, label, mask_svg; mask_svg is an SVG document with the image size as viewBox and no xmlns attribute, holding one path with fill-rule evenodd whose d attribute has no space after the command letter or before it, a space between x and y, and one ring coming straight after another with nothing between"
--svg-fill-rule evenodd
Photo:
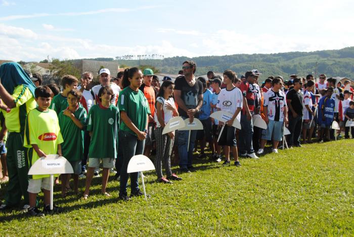
<instances>
[{"instance_id":1,"label":"blue jeans of the tall man in black t-shirt","mask_svg":"<svg viewBox=\"0 0 354 237\"><path fill-rule=\"evenodd\" d=\"M182 118L183 120L186 119L186 117ZM189 131L176 131L178 153L180 155L180 168L188 168L192 166L193 149L195 139L197 137L197 130L191 130L191 137L189 140L189 151L187 151L188 135Z\"/></svg>"}]
</instances>

